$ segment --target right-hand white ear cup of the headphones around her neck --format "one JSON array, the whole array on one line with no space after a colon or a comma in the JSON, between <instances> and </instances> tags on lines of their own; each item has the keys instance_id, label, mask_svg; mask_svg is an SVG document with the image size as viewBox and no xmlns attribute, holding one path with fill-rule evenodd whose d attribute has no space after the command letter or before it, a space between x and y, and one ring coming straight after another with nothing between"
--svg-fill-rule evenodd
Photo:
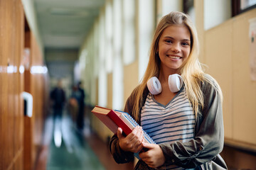
<instances>
[{"instance_id":1,"label":"right-hand white ear cup of the headphones around her neck","mask_svg":"<svg viewBox=\"0 0 256 170\"><path fill-rule=\"evenodd\" d=\"M169 89L171 92L176 93L181 90L183 79L178 74L171 74L168 78Z\"/></svg>"}]
</instances>

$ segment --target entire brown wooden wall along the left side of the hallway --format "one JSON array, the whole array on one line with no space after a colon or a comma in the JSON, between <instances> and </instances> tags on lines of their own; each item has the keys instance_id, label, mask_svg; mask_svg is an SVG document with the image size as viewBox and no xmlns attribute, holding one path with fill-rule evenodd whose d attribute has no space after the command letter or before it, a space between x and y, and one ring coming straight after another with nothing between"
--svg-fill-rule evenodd
<instances>
[{"instance_id":1,"label":"entire brown wooden wall along the left side of the hallway","mask_svg":"<svg viewBox=\"0 0 256 170\"><path fill-rule=\"evenodd\" d=\"M1 0L0 169L33 169L41 145L47 76L31 73L32 66L43 65L43 56L27 28L21 0ZM28 57L24 47L30 49ZM32 118L24 116L23 91L33 95Z\"/></svg>"}]
</instances>

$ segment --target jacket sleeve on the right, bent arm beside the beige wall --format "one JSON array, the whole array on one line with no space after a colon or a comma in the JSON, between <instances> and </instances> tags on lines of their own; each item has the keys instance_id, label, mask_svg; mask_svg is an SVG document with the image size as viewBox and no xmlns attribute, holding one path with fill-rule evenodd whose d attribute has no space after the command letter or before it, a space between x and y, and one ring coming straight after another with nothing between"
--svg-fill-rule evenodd
<instances>
[{"instance_id":1,"label":"jacket sleeve on the right, bent arm beside the beige wall","mask_svg":"<svg viewBox=\"0 0 256 170\"><path fill-rule=\"evenodd\" d=\"M198 111L194 140L159 145L164 152L166 163L194 168L215 159L222 151L224 143L222 101L215 86L207 81L202 85L202 91L204 108Z\"/></svg>"}]
</instances>

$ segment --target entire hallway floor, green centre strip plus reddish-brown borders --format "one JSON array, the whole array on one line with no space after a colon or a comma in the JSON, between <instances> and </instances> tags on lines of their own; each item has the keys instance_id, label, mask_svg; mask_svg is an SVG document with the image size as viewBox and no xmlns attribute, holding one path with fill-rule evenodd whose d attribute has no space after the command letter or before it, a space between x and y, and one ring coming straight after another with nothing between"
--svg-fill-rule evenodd
<instances>
[{"instance_id":1,"label":"entire hallway floor, green centre strip plus reddish-brown borders","mask_svg":"<svg viewBox=\"0 0 256 170\"><path fill-rule=\"evenodd\" d=\"M46 119L43 149L36 170L104 170L133 169L133 163L117 164L108 146L85 123L83 132L76 130L69 115L55 121Z\"/></svg>"}]
</instances>

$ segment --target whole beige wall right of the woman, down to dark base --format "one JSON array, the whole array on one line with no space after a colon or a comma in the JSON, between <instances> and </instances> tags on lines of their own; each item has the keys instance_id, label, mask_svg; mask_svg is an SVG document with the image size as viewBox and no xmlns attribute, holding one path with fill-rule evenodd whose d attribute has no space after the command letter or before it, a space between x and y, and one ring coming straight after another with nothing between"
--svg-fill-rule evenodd
<instances>
[{"instance_id":1,"label":"whole beige wall right of the woman, down to dark base","mask_svg":"<svg viewBox=\"0 0 256 170\"><path fill-rule=\"evenodd\" d=\"M229 146L224 148L224 158L239 169L256 169L255 157L245 153L256 153L256 82L250 79L248 21L255 17L256 9L242 13L207 30L204 38L207 72L223 90L225 145Z\"/></svg>"}]
</instances>

